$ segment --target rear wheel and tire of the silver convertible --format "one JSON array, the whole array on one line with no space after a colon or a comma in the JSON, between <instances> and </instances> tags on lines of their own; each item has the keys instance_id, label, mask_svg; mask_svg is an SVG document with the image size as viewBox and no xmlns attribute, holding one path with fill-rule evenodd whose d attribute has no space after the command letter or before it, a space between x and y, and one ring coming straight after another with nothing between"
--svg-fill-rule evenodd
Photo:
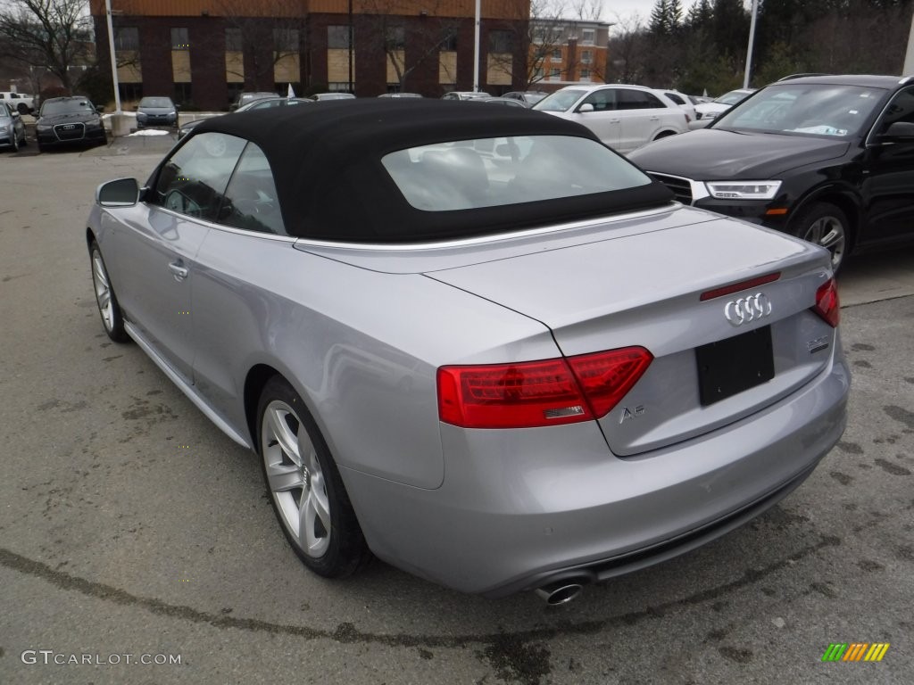
<instances>
[{"instance_id":1,"label":"rear wheel and tire of the silver convertible","mask_svg":"<svg viewBox=\"0 0 914 685\"><path fill-rule=\"evenodd\" d=\"M339 469L302 398L279 375L260 394L257 451L273 512L303 564L325 578L367 564L371 553Z\"/></svg>"}]
</instances>

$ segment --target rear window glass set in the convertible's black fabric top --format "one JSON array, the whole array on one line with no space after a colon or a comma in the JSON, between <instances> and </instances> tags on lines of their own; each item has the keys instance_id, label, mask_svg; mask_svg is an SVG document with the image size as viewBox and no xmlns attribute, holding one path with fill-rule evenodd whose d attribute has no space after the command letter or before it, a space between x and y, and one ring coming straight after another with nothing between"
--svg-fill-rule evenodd
<instances>
[{"instance_id":1,"label":"rear window glass set in the convertible's black fabric top","mask_svg":"<svg viewBox=\"0 0 914 685\"><path fill-rule=\"evenodd\" d=\"M381 162L409 205L430 212L593 195L651 184L589 138L541 135L423 145Z\"/></svg>"}]
</instances>

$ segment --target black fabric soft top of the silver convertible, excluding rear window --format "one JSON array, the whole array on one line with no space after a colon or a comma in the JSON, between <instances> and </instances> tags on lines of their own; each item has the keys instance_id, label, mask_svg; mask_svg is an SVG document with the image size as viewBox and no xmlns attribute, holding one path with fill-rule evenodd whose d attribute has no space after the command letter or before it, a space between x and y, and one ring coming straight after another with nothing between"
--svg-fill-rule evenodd
<instances>
[{"instance_id":1,"label":"black fabric soft top of the silver convertible, excluding rear window","mask_svg":"<svg viewBox=\"0 0 914 685\"><path fill-rule=\"evenodd\" d=\"M470 237L664 205L653 182L637 188L517 205L430 212L409 205L381 158L435 142L508 135L598 140L583 126L537 111L444 100L331 100L203 121L192 136L224 132L260 146L270 162L286 230L341 242ZM191 136L188 136L190 140Z\"/></svg>"}]
</instances>

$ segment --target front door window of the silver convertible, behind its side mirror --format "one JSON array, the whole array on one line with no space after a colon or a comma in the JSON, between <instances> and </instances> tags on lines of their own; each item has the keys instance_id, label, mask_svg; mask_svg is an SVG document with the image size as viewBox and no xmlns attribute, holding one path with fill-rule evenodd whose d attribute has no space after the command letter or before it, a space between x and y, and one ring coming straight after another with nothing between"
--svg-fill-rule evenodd
<instances>
[{"instance_id":1,"label":"front door window of the silver convertible, behind its side mirror","mask_svg":"<svg viewBox=\"0 0 914 685\"><path fill-rule=\"evenodd\" d=\"M152 201L180 214L215 221L244 145L244 140L225 133L194 136L162 165Z\"/></svg>"}]
</instances>

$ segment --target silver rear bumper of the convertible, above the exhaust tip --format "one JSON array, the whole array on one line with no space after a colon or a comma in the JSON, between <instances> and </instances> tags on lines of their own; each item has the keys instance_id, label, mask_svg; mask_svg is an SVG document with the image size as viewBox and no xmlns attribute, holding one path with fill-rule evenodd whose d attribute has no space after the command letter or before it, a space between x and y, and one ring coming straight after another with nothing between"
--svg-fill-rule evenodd
<instances>
[{"instance_id":1,"label":"silver rear bumper of the convertible, above the exhaust tip","mask_svg":"<svg viewBox=\"0 0 914 685\"><path fill-rule=\"evenodd\" d=\"M378 557L469 593L656 564L749 521L799 485L845 429L840 350L813 382L727 427L636 458L596 424L441 426L445 479L420 490L344 469Z\"/></svg>"}]
</instances>

